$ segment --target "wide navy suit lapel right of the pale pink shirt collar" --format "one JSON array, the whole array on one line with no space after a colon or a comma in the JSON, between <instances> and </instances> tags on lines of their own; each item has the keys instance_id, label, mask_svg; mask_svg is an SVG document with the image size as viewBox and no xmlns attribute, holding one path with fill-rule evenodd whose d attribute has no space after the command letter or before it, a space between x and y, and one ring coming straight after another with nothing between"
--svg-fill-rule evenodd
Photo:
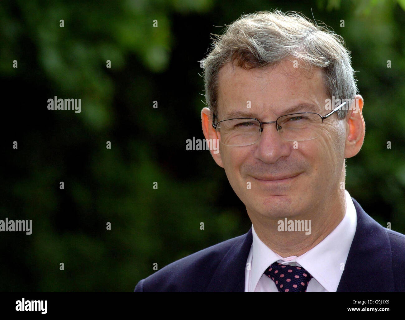
<instances>
[{"instance_id":1,"label":"wide navy suit lapel right of the pale pink shirt collar","mask_svg":"<svg viewBox=\"0 0 405 320\"><path fill-rule=\"evenodd\" d=\"M388 234L352 200L357 212L356 233L337 292L394 291Z\"/></svg>"}]
</instances>

